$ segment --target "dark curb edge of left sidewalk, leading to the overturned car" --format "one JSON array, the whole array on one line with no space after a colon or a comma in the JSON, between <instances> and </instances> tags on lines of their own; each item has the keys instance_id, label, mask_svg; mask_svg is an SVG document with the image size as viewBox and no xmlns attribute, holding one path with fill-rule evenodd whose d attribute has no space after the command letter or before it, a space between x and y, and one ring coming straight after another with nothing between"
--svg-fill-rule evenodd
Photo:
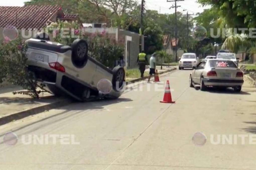
<instances>
[{"instance_id":1,"label":"dark curb edge of left sidewalk, leading to the overturned car","mask_svg":"<svg viewBox=\"0 0 256 170\"><path fill-rule=\"evenodd\" d=\"M27 109L21 112L16 112L13 114L9 114L7 116L1 117L0 118L0 125L4 125L6 123L12 122L14 120L19 120L23 119L24 117L30 116L30 115L35 115L44 111L48 111L51 109L55 109L58 107L66 106L67 104L70 104L72 100L69 99L63 99L54 103L46 104L43 106Z\"/></svg>"}]
</instances>

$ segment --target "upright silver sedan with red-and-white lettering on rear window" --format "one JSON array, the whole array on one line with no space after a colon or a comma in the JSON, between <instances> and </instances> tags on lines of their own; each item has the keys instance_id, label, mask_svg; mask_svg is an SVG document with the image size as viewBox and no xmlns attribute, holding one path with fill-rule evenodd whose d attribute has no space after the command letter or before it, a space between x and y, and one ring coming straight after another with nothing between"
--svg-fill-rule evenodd
<instances>
[{"instance_id":1,"label":"upright silver sedan with red-and-white lettering on rear window","mask_svg":"<svg viewBox=\"0 0 256 170\"><path fill-rule=\"evenodd\" d=\"M232 87L240 92L243 83L243 72L233 61L224 59L202 60L189 77L190 87L200 85L202 91L207 86L213 86Z\"/></svg>"}]
</instances>

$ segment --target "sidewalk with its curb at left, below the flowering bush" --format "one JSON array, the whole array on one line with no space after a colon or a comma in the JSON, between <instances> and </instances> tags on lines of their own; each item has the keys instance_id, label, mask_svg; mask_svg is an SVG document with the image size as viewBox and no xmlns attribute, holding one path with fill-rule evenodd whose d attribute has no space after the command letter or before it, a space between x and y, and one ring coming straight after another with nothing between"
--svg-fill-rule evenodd
<instances>
[{"instance_id":1,"label":"sidewalk with its curb at left, below the flowering bush","mask_svg":"<svg viewBox=\"0 0 256 170\"><path fill-rule=\"evenodd\" d=\"M17 88L12 89L13 91L17 90ZM57 98L49 93L40 94L39 99L33 99L27 95L14 95L12 92L2 93L0 94L0 125L61 107L70 102L67 98Z\"/></svg>"}]
</instances>

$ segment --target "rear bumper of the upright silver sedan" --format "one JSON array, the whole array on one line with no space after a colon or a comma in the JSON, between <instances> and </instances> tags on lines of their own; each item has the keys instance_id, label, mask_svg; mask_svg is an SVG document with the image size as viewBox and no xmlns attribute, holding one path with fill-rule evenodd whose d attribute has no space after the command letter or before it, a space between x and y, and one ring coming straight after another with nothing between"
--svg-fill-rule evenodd
<instances>
[{"instance_id":1,"label":"rear bumper of the upright silver sedan","mask_svg":"<svg viewBox=\"0 0 256 170\"><path fill-rule=\"evenodd\" d=\"M234 86L242 86L243 80L223 80L223 79L203 79L204 84L206 86L226 86L226 87L234 87Z\"/></svg>"}]
</instances>

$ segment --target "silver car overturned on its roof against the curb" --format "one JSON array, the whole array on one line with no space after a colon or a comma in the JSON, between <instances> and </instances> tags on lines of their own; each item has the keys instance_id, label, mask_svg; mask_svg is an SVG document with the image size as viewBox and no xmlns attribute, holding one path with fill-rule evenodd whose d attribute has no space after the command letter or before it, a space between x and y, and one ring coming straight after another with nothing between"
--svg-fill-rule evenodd
<instances>
[{"instance_id":1,"label":"silver car overturned on its roof against the curb","mask_svg":"<svg viewBox=\"0 0 256 170\"><path fill-rule=\"evenodd\" d=\"M28 69L52 94L68 94L80 101L122 95L124 68L110 70L88 56L85 40L77 39L71 47L33 38L27 44Z\"/></svg>"}]
</instances>

